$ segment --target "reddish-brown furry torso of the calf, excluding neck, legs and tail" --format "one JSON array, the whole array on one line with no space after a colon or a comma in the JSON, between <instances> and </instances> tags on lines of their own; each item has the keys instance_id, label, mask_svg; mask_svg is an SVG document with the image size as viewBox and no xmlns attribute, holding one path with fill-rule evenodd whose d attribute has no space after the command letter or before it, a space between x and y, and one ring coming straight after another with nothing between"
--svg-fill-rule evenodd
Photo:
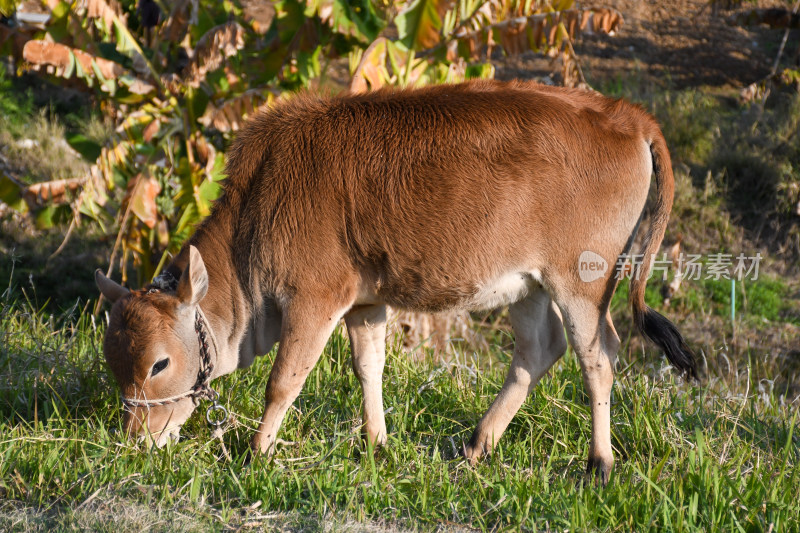
<instances>
[{"instance_id":1,"label":"reddish-brown furry torso of the calf, excluding neck, legs and tail","mask_svg":"<svg viewBox=\"0 0 800 533\"><path fill-rule=\"evenodd\" d=\"M304 95L248 122L216 210L236 212L237 269L257 293L355 275L364 302L475 307L508 273L538 282L584 249L621 251L654 127L636 106L529 83Z\"/></svg>"}]
</instances>

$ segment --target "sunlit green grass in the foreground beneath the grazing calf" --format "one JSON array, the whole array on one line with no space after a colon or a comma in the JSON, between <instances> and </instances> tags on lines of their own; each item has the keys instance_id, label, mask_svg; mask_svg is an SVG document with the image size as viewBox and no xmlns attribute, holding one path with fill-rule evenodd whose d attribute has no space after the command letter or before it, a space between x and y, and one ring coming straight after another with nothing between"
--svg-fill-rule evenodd
<instances>
[{"instance_id":1,"label":"sunlit green grass in the foreground beneath the grazing calf","mask_svg":"<svg viewBox=\"0 0 800 533\"><path fill-rule=\"evenodd\" d=\"M470 467L456 451L499 390L509 354L437 364L391 349L390 442L372 454L357 438L360 392L337 330L284 423L289 444L247 465L271 355L218 380L235 413L222 443L196 413L187 438L148 449L115 433L102 333L77 309L52 316L8 296L0 304L0 529L798 529L798 400L755 379L734 391L714 379L684 383L659 361L621 361L617 465L596 488L583 482L589 409L572 354L496 453Z\"/></svg>"}]
</instances>

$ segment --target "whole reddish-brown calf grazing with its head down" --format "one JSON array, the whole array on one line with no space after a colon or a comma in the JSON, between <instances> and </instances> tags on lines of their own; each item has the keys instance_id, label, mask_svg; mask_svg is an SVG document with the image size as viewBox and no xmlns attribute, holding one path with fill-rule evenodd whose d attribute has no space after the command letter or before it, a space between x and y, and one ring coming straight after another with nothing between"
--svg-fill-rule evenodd
<instances>
[{"instance_id":1,"label":"whole reddish-brown calf grazing with its head down","mask_svg":"<svg viewBox=\"0 0 800 533\"><path fill-rule=\"evenodd\" d=\"M97 274L115 302L105 355L127 399L125 423L142 433L146 421L163 443L207 390L201 363L213 364L214 378L279 341L252 443L269 453L344 317L364 430L382 444L386 306L509 305L511 368L466 457L497 443L566 350L566 327L591 400L589 468L605 479L614 461L609 397L619 347L609 315L613 265L633 242L654 171L654 216L630 301L639 330L694 375L678 331L644 304L673 178L664 137L639 107L482 81L306 94L261 112L230 149L213 213L162 276L128 292ZM214 341L205 350L198 333Z\"/></svg>"}]
</instances>

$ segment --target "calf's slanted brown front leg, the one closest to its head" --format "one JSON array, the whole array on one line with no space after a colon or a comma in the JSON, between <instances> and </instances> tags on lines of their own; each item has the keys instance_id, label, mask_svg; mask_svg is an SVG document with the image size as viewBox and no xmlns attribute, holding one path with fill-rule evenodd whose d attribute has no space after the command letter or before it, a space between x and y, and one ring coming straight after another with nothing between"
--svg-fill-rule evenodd
<instances>
[{"instance_id":1,"label":"calf's slanted brown front leg, the one closest to its head","mask_svg":"<svg viewBox=\"0 0 800 533\"><path fill-rule=\"evenodd\" d=\"M270 370L264 397L264 415L253 435L252 447L256 453L270 455L274 451L286 411L300 394L347 307L295 298L283 311L278 354Z\"/></svg>"}]
</instances>

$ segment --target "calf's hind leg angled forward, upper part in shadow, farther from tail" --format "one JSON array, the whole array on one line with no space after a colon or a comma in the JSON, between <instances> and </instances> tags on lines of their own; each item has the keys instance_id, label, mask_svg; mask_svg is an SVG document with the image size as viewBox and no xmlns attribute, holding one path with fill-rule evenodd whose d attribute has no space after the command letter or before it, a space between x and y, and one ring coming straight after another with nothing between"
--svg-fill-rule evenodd
<instances>
[{"instance_id":1,"label":"calf's hind leg angled forward, upper part in shadow, farther from tail","mask_svg":"<svg viewBox=\"0 0 800 533\"><path fill-rule=\"evenodd\" d=\"M561 316L544 291L513 304L509 314L515 336L511 368L464 448L464 456L471 463L497 444L530 391L567 350Z\"/></svg>"}]
</instances>

